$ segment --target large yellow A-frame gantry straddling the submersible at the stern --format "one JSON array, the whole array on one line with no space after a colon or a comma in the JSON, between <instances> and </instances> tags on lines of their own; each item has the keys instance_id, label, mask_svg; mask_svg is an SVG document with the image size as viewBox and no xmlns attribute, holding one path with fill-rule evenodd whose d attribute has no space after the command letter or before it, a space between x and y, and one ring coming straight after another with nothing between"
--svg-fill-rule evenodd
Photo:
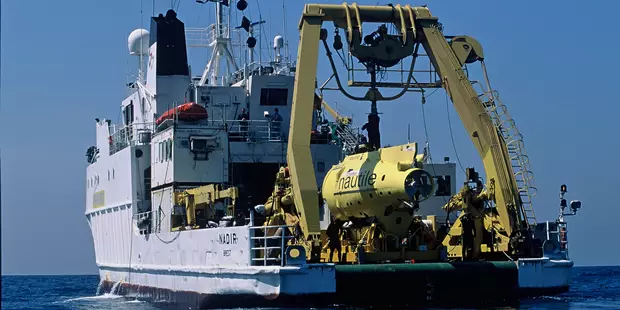
<instances>
[{"instance_id":1,"label":"large yellow A-frame gantry straddling the submersible at the stern","mask_svg":"<svg viewBox=\"0 0 620 310\"><path fill-rule=\"evenodd\" d=\"M349 82L350 86L369 87L364 97L354 97L343 89L326 41L327 30L321 28L324 22L333 22L337 29L344 29L348 52L368 67L368 72L371 73L370 82ZM387 27L381 26L377 31L363 36L362 24L367 22L391 24L397 30L397 34L390 35L387 33ZM445 246L456 249L451 251L451 257L478 258L481 253L486 255L501 252L523 255L523 252L533 248L528 240L531 236L530 226L535 224L535 219L531 205L526 206L523 202L524 196L521 194L524 188L527 191L529 187L520 187L517 184L518 172L515 174L513 170L515 165L511 157L513 150L508 148L505 139L509 136L504 134L510 129L506 126L514 127L514 122L512 120L507 124L494 122L493 113L498 113L497 103L492 99L483 102L463 70L466 64L484 60L481 45L468 36L447 38L443 35L442 29L438 18L426 7L363 6L355 3L307 4L304 7L299 23L300 43L287 150L287 186L290 187L287 191L289 197L287 200L291 207L286 212L295 218L291 222L299 224L303 237L300 243L311 252L308 253L309 258L317 259L319 257L317 251L321 248L319 204L322 202L318 196L310 153L314 106L312 98L316 98L314 89L320 43L326 48L340 90L351 99L370 101L371 114L377 113L377 101L397 99L409 88L443 87L450 96L482 158L486 173L486 180L482 182L477 172L469 169L468 182L445 206L448 210L462 211L443 241ZM334 47L338 45L339 40L341 37L336 34ZM420 46L424 48L440 77L438 83L415 81L413 78L415 59L411 62L406 82L396 85L376 81L378 68L394 66L409 56L415 58L418 56ZM378 87L401 87L402 90L395 96L384 97ZM378 152L382 151L383 149L380 149ZM367 155L368 158L376 156ZM364 159L360 157L360 160ZM414 165L415 160L408 164ZM396 163L393 167L400 166ZM373 171L372 167L368 169ZM362 191L362 186L358 185L353 186L352 190ZM337 184L323 184L323 190L326 186ZM368 208L366 203L362 204L361 201L359 203ZM493 207L486 207L488 203ZM333 206L329 207L331 209ZM489 235L491 241L485 241L485 236ZM472 238L473 240L469 240Z\"/></svg>"}]
</instances>

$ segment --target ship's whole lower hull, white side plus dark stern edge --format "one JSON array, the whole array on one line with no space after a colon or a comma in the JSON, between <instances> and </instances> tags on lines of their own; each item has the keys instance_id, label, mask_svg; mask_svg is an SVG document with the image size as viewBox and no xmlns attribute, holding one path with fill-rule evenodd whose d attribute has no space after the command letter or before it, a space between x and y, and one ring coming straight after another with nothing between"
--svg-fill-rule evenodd
<instances>
[{"instance_id":1,"label":"ship's whole lower hull, white side plus dark stern edge","mask_svg":"<svg viewBox=\"0 0 620 310\"><path fill-rule=\"evenodd\" d=\"M132 223L131 226L128 223ZM356 289L365 285L362 278L380 275L381 283L401 282L403 275L395 272L396 269L410 268L397 266L389 272L377 273L370 270L371 266L360 266L355 272L344 274L342 270L355 266L253 266L248 226L141 235L132 229L135 226L129 206L102 210L98 216L91 217L91 227L104 283L120 282L121 294L189 303L200 308L355 304L359 296L373 295ZM471 269L477 276L466 277L487 277L492 280L490 282L496 281L495 289L502 288L498 289L500 294L492 294L497 298L486 300L493 305L513 304L514 297L519 294L555 294L568 290L572 261L541 258L502 264L512 265L514 273L508 272L500 277L497 270L485 269L484 263L480 263L479 267ZM445 302L453 299L433 296L442 296L442 291L458 291L458 287L452 288L451 285L461 282L454 281L453 275L463 270L440 270L443 268L440 263L426 265L439 267L407 276L408 279L423 280L416 280L419 285L409 286L416 294L403 292L409 299L393 299L395 305L406 305L413 298L418 305L449 306ZM514 289L511 289L512 284ZM459 302L459 306L463 306L466 300Z\"/></svg>"}]
</instances>

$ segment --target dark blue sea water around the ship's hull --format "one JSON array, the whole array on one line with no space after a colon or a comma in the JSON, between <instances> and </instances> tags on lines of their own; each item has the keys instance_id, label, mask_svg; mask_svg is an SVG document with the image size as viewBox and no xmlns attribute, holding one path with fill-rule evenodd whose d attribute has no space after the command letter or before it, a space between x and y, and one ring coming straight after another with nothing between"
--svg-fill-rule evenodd
<instances>
[{"instance_id":1,"label":"dark blue sea water around the ship's hull","mask_svg":"<svg viewBox=\"0 0 620 310\"><path fill-rule=\"evenodd\" d=\"M575 267L569 292L521 300L519 309L620 309L620 266ZM1 309L187 309L114 294L93 276L2 276ZM282 310L282 309L280 309Z\"/></svg>"}]
</instances>

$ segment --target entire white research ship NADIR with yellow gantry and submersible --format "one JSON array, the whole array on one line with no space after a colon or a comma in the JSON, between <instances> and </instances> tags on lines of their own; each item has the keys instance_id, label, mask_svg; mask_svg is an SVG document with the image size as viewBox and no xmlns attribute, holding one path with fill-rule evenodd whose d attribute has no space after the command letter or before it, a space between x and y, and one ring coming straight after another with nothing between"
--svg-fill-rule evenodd
<instances>
[{"instance_id":1,"label":"entire white research ship NADIR with yellow gantry and submersible","mask_svg":"<svg viewBox=\"0 0 620 310\"><path fill-rule=\"evenodd\" d=\"M562 185L558 218L536 220L523 137L478 41L444 35L427 7L307 4L296 60L281 35L262 59L264 21L247 17L248 2L202 2L216 12L207 28L171 9L131 32L139 69L122 122L96 119L85 214L98 291L222 308L479 306L569 289L564 216L581 203ZM201 74L188 48L211 50ZM333 71L324 83L320 49ZM482 82L464 71L475 63ZM378 81L386 72L399 78ZM377 102L432 88L448 93L483 159L484 173L467 168L458 187L449 158L380 143ZM370 103L368 139L328 91Z\"/></svg>"}]
</instances>

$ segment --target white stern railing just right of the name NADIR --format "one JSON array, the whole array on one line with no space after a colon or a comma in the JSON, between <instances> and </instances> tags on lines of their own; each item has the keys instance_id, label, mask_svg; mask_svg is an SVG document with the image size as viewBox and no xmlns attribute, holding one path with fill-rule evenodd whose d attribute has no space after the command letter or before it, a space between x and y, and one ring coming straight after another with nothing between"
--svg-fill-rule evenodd
<instances>
[{"instance_id":1,"label":"white stern railing just right of the name NADIR","mask_svg":"<svg viewBox=\"0 0 620 310\"><path fill-rule=\"evenodd\" d=\"M251 226L250 253L253 266L280 265L284 266L284 250L289 239L294 238L289 233L293 226ZM276 230L275 234L267 235L267 230ZM258 233L258 234L257 234Z\"/></svg>"}]
</instances>

